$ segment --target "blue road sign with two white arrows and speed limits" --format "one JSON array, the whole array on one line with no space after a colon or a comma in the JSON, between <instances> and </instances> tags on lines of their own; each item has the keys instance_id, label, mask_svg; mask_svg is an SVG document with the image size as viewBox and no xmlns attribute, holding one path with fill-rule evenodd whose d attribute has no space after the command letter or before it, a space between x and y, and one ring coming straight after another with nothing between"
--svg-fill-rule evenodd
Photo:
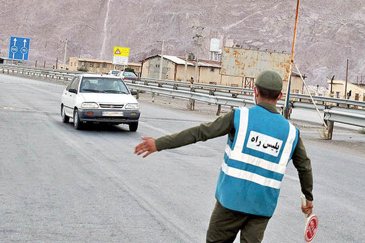
<instances>
[{"instance_id":1,"label":"blue road sign with two white arrows and speed limits","mask_svg":"<svg viewBox=\"0 0 365 243\"><path fill-rule=\"evenodd\" d=\"M9 59L28 60L30 38L10 36Z\"/></svg>"}]
</instances>

